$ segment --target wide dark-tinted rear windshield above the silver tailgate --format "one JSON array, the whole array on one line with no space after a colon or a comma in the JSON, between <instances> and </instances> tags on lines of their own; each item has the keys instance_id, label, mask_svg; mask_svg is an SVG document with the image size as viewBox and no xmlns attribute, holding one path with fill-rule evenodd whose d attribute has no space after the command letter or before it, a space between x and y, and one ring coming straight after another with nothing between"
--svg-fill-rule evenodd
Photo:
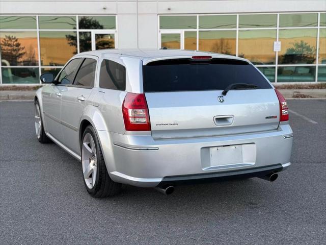
<instances>
[{"instance_id":1,"label":"wide dark-tinted rear windshield above the silver tailgate","mask_svg":"<svg viewBox=\"0 0 326 245\"><path fill-rule=\"evenodd\" d=\"M143 66L143 83L145 92L224 90L233 83L271 88L253 65L232 59L151 62Z\"/></svg>"}]
</instances>

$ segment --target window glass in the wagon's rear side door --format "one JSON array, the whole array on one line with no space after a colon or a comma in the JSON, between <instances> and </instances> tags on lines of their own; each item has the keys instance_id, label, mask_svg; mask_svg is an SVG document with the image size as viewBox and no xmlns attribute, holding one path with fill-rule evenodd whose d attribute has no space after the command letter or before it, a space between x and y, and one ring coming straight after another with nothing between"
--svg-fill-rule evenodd
<instances>
[{"instance_id":1,"label":"window glass in the wagon's rear side door","mask_svg":"<svg viewBox=\"0 0 326 245\"><path fill-rule=\"evenodd\" d=\"M95 70L96 60L86 58L82 66L80 66L73 84L93 88L95 81Z\"/></svg>"}]
</instances>

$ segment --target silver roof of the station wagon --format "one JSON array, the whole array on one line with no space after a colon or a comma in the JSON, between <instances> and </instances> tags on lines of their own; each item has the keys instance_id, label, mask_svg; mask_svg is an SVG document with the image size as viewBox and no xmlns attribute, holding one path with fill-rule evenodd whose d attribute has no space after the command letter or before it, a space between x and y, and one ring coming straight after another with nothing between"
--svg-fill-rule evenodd
<instances>
[{"instance_id":1,"label":"silver roof of the station wagon","mask_svg":"<svg viewBox=\"0 0 326 245\"><path fill-rule=\"evenodd\" d=\"M79 55L96 55L98 57L102 56L115 56L115 57L133 57L136 59L143 60L144 63L148 63L154 60L161 60L161 59L170 59L170 58L182 58L182 57L192 57L192 56L212 56L213 58L224 58L224 59L236 59L236 60L243 60L247 61L246 59L231 56L231 55L224 55L224 54L217 54L212 52L203 52L203 51L191 51L191 50L174 50L174 49L150 49L150 48L130 48L130 49L107 49L107 50L96 50L96 51L89 51L83 52Z\"/></svg>"}]
</instances>

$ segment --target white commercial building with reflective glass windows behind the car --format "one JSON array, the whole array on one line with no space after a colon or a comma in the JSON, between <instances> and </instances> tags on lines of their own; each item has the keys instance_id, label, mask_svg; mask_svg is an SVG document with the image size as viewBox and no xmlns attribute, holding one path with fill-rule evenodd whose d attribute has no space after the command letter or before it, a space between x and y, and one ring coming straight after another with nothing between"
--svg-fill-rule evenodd
<instances>
[{"instance_id":1,"label":"white commercial building with reflective glass windows behind the car","mask_svg":"<svg viewBox=\"0 0 326 245\"><path fill-rule=\"evenodd\" d=\"M181 48L251 60L271 82L326 81L324 0L0 2L1 84L39 84L74 54Z\"/></svg>"}]
</instances>

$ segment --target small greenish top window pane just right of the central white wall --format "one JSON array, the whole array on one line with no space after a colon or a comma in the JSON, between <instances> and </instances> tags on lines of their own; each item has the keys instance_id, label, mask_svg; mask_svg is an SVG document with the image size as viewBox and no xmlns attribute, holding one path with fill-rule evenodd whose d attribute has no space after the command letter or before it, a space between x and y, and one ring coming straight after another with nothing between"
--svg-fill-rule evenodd
<instances>
[{"instance_id":1,"label":"small greenish top window pane just right of the central white wall","mask_svg":"<svg viewBox=\"0 0 326 245\"><path fill-rule=\"evenodd\" d=\"M160 29L196 29L197 16L159 16Z\"/></svg>"}]
</instances>

